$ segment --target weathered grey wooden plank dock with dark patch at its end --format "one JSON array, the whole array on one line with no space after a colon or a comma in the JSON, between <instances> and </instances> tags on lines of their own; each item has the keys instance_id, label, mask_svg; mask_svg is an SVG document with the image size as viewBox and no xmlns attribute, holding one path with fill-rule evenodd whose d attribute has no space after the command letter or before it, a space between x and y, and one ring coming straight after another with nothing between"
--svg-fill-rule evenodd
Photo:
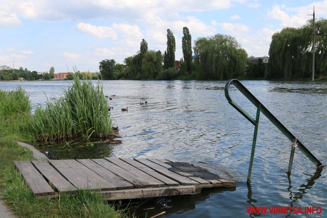
<instances>
[{"instance_id":1,"label":"weathered grey wooden plank dock with dark patch at its end","mask_svg":"<svg viewBox=\"0 0 327 218\"><path fill-rule=\"evenodd\" d=\"M235 182L190 163L145 158L15 161L36 197L100 190L106 200L192 195Z\"/></svg>"}]
</instances>

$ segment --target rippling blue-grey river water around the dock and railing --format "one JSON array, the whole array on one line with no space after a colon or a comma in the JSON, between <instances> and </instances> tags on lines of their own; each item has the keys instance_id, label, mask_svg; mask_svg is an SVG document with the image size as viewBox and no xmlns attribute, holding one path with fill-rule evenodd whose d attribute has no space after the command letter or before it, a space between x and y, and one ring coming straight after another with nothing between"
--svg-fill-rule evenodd
<instances>
[{"instance_id":1,"label":"rippling blue-grey river water around the dock and railing","mask_svg":"<svg viewBox=\"0 0 327 218\"><path fill-rule=\"evenodd\" d=\"M1 82L21 85L32 103L58 98L69 81ZM246 178L254 127L224 96L226 81L103 81L111 116L123 143L96 144L59 158L151 157L195 163L237 181L236 189L208 189L198 195L155 198L137 214L162 217L253 217L247 207L321 207L320 214L262 214L264 217L326 217L327 174L298 149L292 175L292 142L261 114L252 183ZM242 81L305 146L327 164L327 82ZM235 88L231 98L255 117L256 108ZM147 101L147 105L139 103ZM128 107L128 112L121 108ZM63 146L64 147L64 146ZM69 154L67 156L67 154ZM66 156L65 156L66 155ZM155 209L152 209L152 208ZM150 209L149 209L150 208Z\"/></svg>"}]
</instances>

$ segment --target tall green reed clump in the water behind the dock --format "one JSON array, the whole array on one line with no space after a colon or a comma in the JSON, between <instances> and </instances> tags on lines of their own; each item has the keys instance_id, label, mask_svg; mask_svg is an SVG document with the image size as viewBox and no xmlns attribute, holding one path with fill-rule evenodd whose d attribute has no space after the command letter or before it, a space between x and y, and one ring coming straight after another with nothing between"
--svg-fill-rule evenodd
<instances>
[{"instance_id":1,"label":"tall green reed clump in the water behind the dock","mask_svg":"<svg viewBox=\"0 0 327 218\"><path fill-rule=\"evenodd\" d=\"M112 134L108 104L99 81L74 76L74 82L59 99L38 105L30 124L37 141L68 138L106 138Z\"/></svg>"}]
</instances>

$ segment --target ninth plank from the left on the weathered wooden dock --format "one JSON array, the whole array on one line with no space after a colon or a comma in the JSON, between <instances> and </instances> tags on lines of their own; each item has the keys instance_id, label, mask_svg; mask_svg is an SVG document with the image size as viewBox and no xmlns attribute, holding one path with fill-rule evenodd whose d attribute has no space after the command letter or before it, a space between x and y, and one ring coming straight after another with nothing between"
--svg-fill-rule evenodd
<instances>
[{"instance_id":1,"label":"ninth plank from the left on the weathered wooden dock","mask_svg":"<svg viewBox=\"0 0 327 218\"><path fill-rule=\"evenodd\" d=\"M196 182L192 179L189 179L188 177L184 177L184 176L178 175L174 172L171 172L171 171L169 171L169 169L167 169L163 166L160 166L156 163L153 163L150 160L147 160L145 158L135 158L135 160L149 166L150 168L154 169L154 171L156 171L162 175L165 175L166 177L168 177L172 180L175 180L176 182L179 182L179 184L181 184L181 185L199 185L198 182Z\"/></svg>"}]
</instances>

